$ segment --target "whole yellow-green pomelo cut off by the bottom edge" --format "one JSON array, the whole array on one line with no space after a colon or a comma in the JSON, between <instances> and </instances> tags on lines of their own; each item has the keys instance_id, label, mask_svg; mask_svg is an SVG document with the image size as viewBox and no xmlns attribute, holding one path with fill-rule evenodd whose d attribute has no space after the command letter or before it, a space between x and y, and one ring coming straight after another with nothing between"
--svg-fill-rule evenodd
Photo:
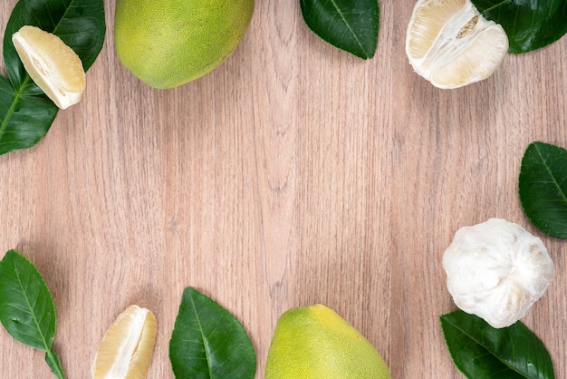
<instances>
[{"instance_id":1,"label":"whole yellow-green pomelo cut off by the bottom edge","mask_svg":"<svg viewBox=\"0 0 567 379\"><path fill-rule=\"evenodd\" d=\"M391 379L370 342L327 306L299 306L280 317L265 379Z\"/></svg>"}]
</instances>

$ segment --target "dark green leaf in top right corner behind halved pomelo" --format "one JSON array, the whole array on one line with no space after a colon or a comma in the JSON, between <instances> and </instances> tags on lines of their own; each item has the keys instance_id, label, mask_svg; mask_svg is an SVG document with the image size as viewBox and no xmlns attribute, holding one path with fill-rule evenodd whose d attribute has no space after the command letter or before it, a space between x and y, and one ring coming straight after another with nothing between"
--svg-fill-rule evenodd
<instances>
[{"instance_id":1,"label":"dark green leaf in top right corner behind halved pomelo","mask_svg":"<svg viewBox=\"0 0 567 379\"><path fill-rule=\"evenodd\" d=\"M567 0L472 1L486 19L505 29L510 53L539 49L567 33Z\"/></svg>"}]
</instances>

